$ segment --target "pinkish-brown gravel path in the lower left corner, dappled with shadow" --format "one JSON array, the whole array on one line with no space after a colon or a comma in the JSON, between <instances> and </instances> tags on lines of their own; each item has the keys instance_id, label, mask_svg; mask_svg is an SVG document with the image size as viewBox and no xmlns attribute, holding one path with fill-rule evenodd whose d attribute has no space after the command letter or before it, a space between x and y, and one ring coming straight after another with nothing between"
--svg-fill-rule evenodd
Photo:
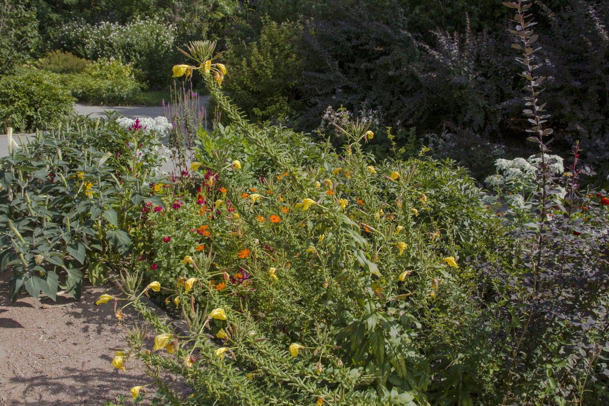
<instances>
[{"instance_id":1,"label":"pinkish-brown gravel path in the lower left corner, dappled with shadow","mask_svg":"<svg viewBox=\"0 0 609 406\"><path fill-rule=\"evenodd\" d=\"M83 287L82 300L72 306L42 309L42 304L69 304L74 299L23 295L7 300L11 272L0 273L0 405L102 405L150 379L137 361L127 372L112 369L113 353L123 347L125 329L117 325L111 303L96 306L100 294L118 294L111 284ZM136 322L125 312L125 324ZM141 324L141 323L138 323ZM130 402L127 402L129 404Z\"/></svg>"}]
</instances>

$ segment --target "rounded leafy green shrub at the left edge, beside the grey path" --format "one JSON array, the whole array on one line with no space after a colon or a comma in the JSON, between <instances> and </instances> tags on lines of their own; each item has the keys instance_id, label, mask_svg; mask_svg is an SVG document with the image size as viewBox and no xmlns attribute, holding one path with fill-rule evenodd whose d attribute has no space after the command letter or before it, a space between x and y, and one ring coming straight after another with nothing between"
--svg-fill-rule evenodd
<instances>
[{"instance_id":1,"label":"rounded leafy green shrub at the left edge, beside the grey path","mask_svg":"<svg viewBox=\"0 0 609 406\"><path fill-rule=\"evenodd\" d=\"M72 113L74 97L37 71L0 79L0 125L15 131L46 130Z\"/></svg>"}]
</instances>

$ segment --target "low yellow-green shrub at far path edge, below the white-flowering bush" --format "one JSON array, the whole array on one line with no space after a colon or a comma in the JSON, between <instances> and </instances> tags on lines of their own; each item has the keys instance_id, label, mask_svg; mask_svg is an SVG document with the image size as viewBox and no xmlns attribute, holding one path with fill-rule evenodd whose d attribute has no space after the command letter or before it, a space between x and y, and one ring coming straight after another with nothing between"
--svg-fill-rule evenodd
<instances>
[{"instance_id":1,"label":"low yellow-green shrub at far path edge, below the white-flowering bush","mask_svg":"<svg viewBox=\"0 0 609 406\"><path fill-rule=\"evenodd\" d=\"M65 83L74 97L91 104L130 103L143 88L133 77L132 66L118 60L99 60L82 74L65 77Z\"/></svg>"}]
</instances>

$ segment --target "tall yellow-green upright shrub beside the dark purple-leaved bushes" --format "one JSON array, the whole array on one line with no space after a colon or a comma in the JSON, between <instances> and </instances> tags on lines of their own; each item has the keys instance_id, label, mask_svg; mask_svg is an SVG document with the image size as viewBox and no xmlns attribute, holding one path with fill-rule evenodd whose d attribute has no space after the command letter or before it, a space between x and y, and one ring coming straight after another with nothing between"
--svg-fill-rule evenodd
<instances>
[{"instance_id":1,"label":"tall yellow-green upright shrub beside the dark purple-leaved bushes","mask_svg":"<svg viewBox=\"0 0 609 406\"><path fill-rule=\"evenodd\" d=\"M303 27L268 19L263 23L257 41L228 47L225 57L231 70L225 89L239 107L259 121L294 121L303 107L296 89L304 65L295 43Z\"/></svg>"}]
</instances>

